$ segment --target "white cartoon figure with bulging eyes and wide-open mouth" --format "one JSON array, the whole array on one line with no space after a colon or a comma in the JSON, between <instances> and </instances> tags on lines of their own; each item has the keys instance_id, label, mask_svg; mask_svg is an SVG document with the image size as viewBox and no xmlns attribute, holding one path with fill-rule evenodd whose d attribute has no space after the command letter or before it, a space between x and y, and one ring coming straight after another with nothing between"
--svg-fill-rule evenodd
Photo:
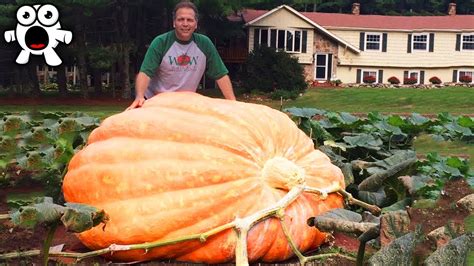
<instances>
[{"instance_id":1,"label":"white cartoon figure with bulging eyes and wide-open mouth","mask_svg":"<svg viewBox=\"0 0 474 266\"><path fill-rule=\"evenodd\" d=\"M50 4L21 6L16 12L16 30L4 33L7 42L18 41L23 49L16 62L26 64L30 54L44 55L46 64L58 66L62 63L54 48L63 42L69 44L72 32L61 29L58 9Z\"/></svg>"}]
</instances>

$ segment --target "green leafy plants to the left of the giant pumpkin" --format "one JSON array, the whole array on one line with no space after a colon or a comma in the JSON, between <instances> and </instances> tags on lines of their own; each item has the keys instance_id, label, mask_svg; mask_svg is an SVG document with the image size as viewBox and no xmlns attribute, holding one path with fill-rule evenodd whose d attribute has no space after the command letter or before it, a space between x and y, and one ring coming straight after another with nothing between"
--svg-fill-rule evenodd
<instances>
[{"instance_id":1,"label":"green leafy plants to the left of the giant pumpkin","mask_svg":"<svg viewBox=\"0 0 474 266\"><path fill-rule=\"evenodd\" d=\"M0 186L32 181L59 199L69 160L99 120L81 113L3 114L0 135Z\"/></svg>"}]
</instances>

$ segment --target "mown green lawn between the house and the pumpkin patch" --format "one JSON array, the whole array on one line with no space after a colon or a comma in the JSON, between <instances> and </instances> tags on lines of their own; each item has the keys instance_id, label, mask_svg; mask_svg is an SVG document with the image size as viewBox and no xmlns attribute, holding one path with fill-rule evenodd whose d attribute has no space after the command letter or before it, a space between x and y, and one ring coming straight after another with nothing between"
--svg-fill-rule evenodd
<instances>
[{"instance_id":1,"label":"mown green lawn between the house and the pumpkin patch","mask_svg":"<svg viewBox=\"0 0 474 266\"><path fill-rule=\"evenodd\" d=\"M314 107L329 111L367 113L474 114L474 88L443 89L309 89L284 107Z\"/></svg>"}]
</instances>

